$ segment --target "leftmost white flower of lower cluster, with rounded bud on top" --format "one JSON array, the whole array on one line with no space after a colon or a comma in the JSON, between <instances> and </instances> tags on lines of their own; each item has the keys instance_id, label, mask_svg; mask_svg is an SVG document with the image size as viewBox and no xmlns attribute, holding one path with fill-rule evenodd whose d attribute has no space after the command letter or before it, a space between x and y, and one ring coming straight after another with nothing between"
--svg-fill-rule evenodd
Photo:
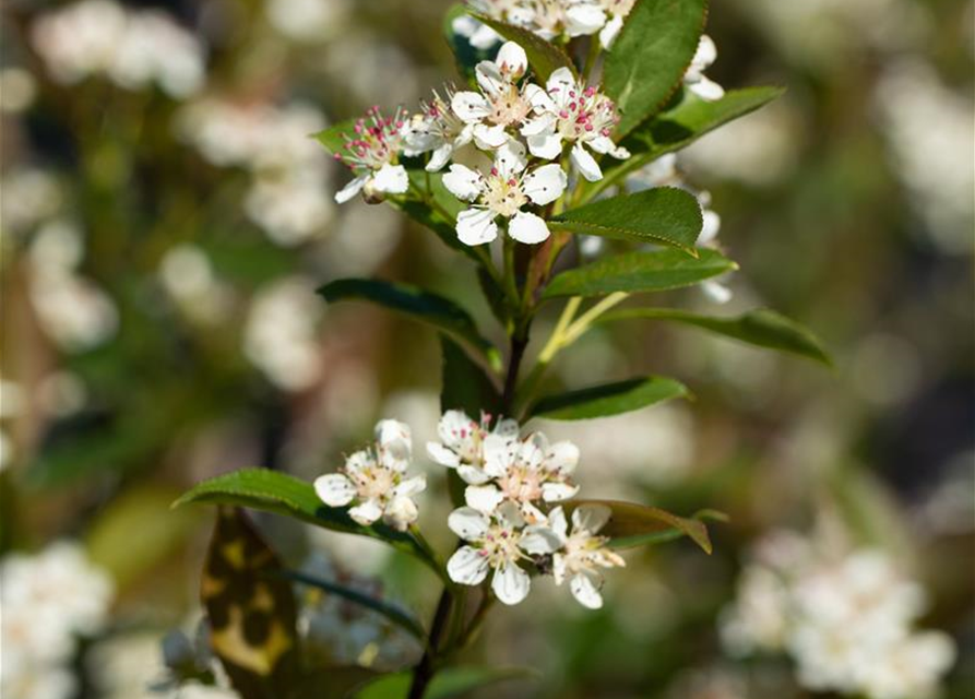
<instances>
[{"instance_id":1,"label":"leftmost white flower of lower cluster, with rounded bud on top","mask_svg":"<svg viewBox=\"0 0 975 699\"><path fill-rule=\"evenodd\" d=\"M373 448L352 454L341 473L320 476L314 490L329 507L355 501L348 514L364 526L381 518L404 531L419 514L413 496L427 487L426 476L405 477L411 453L409 427L382 420L376 426Z\"/></svg>"}]
</instances>

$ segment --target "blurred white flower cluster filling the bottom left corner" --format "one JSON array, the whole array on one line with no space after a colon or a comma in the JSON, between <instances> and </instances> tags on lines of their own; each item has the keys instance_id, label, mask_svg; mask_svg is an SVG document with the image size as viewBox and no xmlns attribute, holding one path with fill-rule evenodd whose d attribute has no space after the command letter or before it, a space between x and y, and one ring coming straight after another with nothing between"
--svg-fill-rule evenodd
<instances>
[{"instance_id":1,"label":"blurred white flower cluster filling the bottom left corner","mask_svg":"<svg viewBox=\"0 0 975 699\"><path fill-rule=\"evenodd\" d=\"M74 696L69 663L78 639L104 628L112 593L111 580L73 543L56 543L37 555L13 554L0 562L0 695Z\"/></svg>"}]
</instances>

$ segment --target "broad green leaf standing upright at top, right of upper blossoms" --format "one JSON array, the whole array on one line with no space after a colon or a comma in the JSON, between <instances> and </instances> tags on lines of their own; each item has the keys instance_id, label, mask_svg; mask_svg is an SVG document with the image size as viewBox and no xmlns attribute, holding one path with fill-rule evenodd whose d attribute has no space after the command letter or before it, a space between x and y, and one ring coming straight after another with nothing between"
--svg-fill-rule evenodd
<instances>
[{"instance_id":1,"label":"broad green leaf standing upright at top, right of upper blossoms","mask_svg":"<svg viewBox=\"0 0 975 699\"><path fill-rule=\"evenodd\" d=\"M625 135L680 86L698 49L706 0L639 0L606 58L603 87L620 110Z\"/></svg>"}]
</instances>

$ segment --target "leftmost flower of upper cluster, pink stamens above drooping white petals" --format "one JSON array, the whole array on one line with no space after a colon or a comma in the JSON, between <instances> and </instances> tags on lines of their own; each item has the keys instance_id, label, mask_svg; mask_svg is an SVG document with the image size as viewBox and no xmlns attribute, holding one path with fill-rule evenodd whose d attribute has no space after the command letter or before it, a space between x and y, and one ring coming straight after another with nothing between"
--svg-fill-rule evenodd
<instances>
[{"instance_id":1,"label":"leftmost flower of upper cluster, pink stamens above drooping white petals","mask_svg":"<svg viewBox=\"0 0 975 699\"><path fill-rule=\"evenodd\" d=\"M335 154L352 168L356 178L335 194L335 201L344 204L359 192L367 200L381 199L382 194L405 194L409 189L406 168L399 165L403 149L405 127L402 111L383 117L379 107L371 107L367 117L356 123L356 138L347 138L345 152Z\"/></svg>"}]
</instances>

